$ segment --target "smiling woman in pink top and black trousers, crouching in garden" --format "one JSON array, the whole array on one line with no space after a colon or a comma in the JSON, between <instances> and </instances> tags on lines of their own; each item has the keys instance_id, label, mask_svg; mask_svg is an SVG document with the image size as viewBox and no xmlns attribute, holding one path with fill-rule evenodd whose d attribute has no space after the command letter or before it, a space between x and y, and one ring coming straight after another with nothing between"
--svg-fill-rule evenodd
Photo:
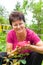
<instances>
[{"instance_id":1,"label":"smiling woman in pink top and black trousers, crouching in garden","mask_svg":"<svg viewBox=\"0 0 43 65\"><path fill-rule=\"evenodd\" d=\"M21 12L12 12L9 16L9 23L12 26L7 34L7 53L29 53L26 58L26 65L41 65L43 56L43 42L35 32L25 27L25 17ZM26 41L26 45L22 43L22 47L18 46L19 42ZM22 64L21 64L22 65Z\"/></svg>"}]
</instances>

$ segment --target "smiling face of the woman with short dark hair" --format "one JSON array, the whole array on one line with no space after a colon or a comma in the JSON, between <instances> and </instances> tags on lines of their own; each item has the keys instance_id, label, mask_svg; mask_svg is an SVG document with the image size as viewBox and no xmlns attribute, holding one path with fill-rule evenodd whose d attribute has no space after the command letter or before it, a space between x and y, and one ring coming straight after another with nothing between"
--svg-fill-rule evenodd
<instances>
[{"instance_id":1,"label":"smiling face of the woman with short dark hair","mask_svg":"<svg viewBox=\"0 0 43 65\"><path fill-rule=\"evenodd\" d=\"M23 20L13 21L12 27L16 33L22 33L25 30L25 23Z\"/></svg>"}]
</instances>

